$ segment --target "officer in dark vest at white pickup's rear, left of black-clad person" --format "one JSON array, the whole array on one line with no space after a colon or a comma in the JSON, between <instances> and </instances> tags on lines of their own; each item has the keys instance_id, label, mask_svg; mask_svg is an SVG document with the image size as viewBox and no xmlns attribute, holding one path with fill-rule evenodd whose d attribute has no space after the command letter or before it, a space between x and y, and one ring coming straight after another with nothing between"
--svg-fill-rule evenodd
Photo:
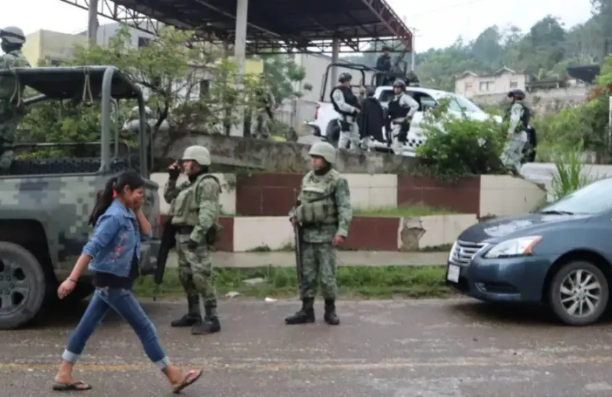
<instances>
[{"instance_id":1,"label":"officer in dark vest at white pickup's rear, left of black-clad person","mask_svg":"<svg viewBox=\"0 0 612 397\"><path fill-rule=\"evenodd\" d=\"M351 81L353 77L350 73L340 73L338 81L340 85L330 92L330 98L334 110L341 116L340 118L340 139L338 147L346 149L350 144L350 149L358 149L360 146L359 132L355 120L360 112L359 99L353 94Z\"/></svg>"}]
</instances>

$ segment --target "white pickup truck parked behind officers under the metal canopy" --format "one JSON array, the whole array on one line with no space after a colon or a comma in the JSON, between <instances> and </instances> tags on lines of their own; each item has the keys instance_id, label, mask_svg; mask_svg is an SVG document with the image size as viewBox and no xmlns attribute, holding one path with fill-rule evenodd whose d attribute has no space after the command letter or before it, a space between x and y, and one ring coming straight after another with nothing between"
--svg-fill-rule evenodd
<instances>
[{"instance_id":1,"label":"white pickup truck parked behind officers under the metal canopy","mask_svg":"<svg viewBox=\"0 0 612 397\"><path fill-rule=\"evenodd\" d=\"M428 109L436 106L441 99L450 99L449 112L456 114L461 117L465 112L465 116L473 118L474 120L487 120L490 115L484 112L478 105L469 101L469 99L451 92L445 92L441 90L432 90L430 88L422 87L408 87L406 92L411 95L419 103L419 111L413 116L410 131L408 131L408 140L404 146L402 153L396 153L401 155L407 155L414 157L418 146L423 144L425 135L420 127L423 120L423 114ZM374 97L380 101L383 107L389 105L389 101L393 98L393 87L392 86L380 86L376 88ZM325 99L325 98L321 98ZM463 112L462 112L463 110ZM339 120L340 115L334 110L332 103L329 101L319 101L317 103L317 110L315 112L315 120L308 120L304 124L313 128L315 136L320 137L323 140L327 140L334 146L338 146L338 139L340 136ZM494 116L499 122L502 118ZM383 136L386 135L383 127ZM387 147L386 142L378 142L371 140L369 147L377 151L391 151Z\"/></svg>"}]
</instances>

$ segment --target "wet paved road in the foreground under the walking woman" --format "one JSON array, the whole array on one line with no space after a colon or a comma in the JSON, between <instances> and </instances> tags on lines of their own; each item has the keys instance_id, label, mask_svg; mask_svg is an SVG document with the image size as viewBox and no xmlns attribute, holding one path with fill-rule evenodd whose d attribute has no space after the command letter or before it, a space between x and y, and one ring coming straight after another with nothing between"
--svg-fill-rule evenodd
<instances>
[{"instance_id":1,"label":"wet paved road in the foreground under the walking woman","mask_svg":"<svg viewBox=\"0 0 612 397\"><path fill-rule=\"evenodd\" d=\"M343 324L284 326L295 303L223 303L223 331L171 329L179 303L145 303L169 355L204 368L187 396L588 397L611 396L609 324L559 326L540 311L472 300L341 302ZM513 314L515 313L515 314ZM521 314L517 314L521 313ZM51 396L62 346L77 316L3 332L2 396ZM44 328L43 328L44 327ZM169 396L132 331L106 320L82 359L86 396Z\"/></svg>"}]
</instances>

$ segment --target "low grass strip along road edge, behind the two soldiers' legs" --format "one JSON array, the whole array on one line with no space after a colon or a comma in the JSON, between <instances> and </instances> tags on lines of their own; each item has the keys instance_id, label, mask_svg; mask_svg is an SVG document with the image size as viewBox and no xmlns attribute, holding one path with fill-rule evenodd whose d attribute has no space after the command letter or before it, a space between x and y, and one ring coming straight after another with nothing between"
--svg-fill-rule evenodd
<instances>
[{"instance_id":1,"label":"low grass strip along road edge, behind the two soldiers' legs","mask_svg":"<svg viewBox=\"0 0 612 397\"><path fill-rule=\"evenodd\" d=\"M337 281L344 297L434 298L452 294L445 285L444 275L445 266L342 266L338 269ZM257 278L264 281L256 285L245 283L245 280ZM295 268L215 269L215 285L220 297L230 291L251 298L297 296ZM153 296L153 278L140 277L134 292L138 296ZM184 296L176 268L167 269L159 296Z\"/></svg>"}]
</instances>

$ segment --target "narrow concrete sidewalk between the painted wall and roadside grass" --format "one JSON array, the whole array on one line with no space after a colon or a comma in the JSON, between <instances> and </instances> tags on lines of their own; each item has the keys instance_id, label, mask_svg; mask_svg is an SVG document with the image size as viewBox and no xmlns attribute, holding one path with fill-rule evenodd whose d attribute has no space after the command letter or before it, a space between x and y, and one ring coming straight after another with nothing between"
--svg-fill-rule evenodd
<instances>
[{"instance_id":1,"label":"narrow concrete sidewalk between the painted wall and roadside grass","mask_svg":"<svg viewBox=\"0 0 612 397\"><path fill-rule=\"evenodd\" d=\"M402 253L399 251L338 251L341 266L431 266L446 264L448 253ZM295 267L293 251L271 253L212 254L217 268L258 268L261 266ZM168 266L178 266L176 253L168 256Z\"/></svg>"}]
</instances>

